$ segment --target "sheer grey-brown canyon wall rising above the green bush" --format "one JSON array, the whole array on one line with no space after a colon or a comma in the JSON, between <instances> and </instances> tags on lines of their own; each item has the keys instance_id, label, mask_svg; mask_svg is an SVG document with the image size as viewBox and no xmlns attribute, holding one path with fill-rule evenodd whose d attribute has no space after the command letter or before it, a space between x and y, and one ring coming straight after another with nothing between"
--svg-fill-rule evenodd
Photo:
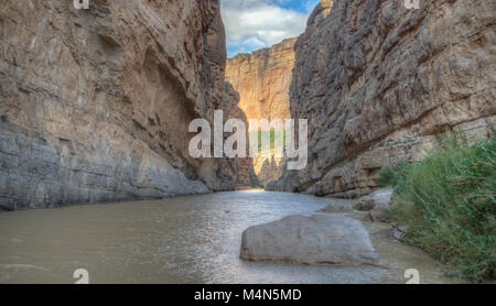
<instances>
[{"instance_id":1,"label":"sheer grey-brown canyon wall rising above the green bush","mask_svg":"<svg viewBox=\"0 0 496 306\"><path fill-rule=\"evenodd\" d=\"M421 160L446 130L494 133L496 2L420 6L315 9L295 44L290 90L292 117L310 123L309 166L271 189L357 197L377 187L384 165Z\"/></svg>"}]
</instances>

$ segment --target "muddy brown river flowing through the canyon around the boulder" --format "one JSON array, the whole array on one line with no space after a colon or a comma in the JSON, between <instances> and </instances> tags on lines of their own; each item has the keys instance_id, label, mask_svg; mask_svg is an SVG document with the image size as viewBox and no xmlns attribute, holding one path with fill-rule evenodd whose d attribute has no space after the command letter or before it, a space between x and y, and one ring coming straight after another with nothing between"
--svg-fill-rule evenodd
<instances>
[{"instance_id":1,"label":"muddy brown river flowing through the canyon around the boulder","mask_svg":"<svg viewBox=\"0 0 496 306\"><path fill-rule=\"evenodd\" d=\"M453 282L432 259L374 241L385 267L306 266L239 259L241 232L311 215L328 198L258 190L0 214L0 283L422 283Z\"/></svg>"}]
</instances>

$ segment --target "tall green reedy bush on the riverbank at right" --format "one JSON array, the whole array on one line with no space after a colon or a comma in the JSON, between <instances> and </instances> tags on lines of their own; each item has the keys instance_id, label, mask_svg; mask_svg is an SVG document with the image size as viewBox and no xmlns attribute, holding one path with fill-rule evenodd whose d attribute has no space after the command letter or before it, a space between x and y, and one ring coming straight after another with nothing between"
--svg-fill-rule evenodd
<instances>
[{"instance_id":1,"label":"tall green reedy bush on the riverbank at right","mask_svg":"<svg viewBox=\"0 0 496 306\"><path fill-rule=\"evenodd\" d=\"M422 162L382 170L379 183L395 187L391 218L409 228L405 242L451 276L495 278L496 138L468 146L444 136Z\"/></svg>"}]
</instances>

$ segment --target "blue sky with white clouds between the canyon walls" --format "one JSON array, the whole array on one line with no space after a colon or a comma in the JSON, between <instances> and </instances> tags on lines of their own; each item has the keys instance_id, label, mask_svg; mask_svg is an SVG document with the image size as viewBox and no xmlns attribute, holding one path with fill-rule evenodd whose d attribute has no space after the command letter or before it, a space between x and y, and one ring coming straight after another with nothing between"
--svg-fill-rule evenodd
<instances>
[{"instance_id":1,"label":"blue sky with white clouds between the canyon walls","mask_svg":"<svg viewBox=\"0 0 496 306\"><path fill-rule=\"evenodd\" d=\"M269 47L303 33L320 0L222 0L227 54Z\"/></svg>"}]
</instances>

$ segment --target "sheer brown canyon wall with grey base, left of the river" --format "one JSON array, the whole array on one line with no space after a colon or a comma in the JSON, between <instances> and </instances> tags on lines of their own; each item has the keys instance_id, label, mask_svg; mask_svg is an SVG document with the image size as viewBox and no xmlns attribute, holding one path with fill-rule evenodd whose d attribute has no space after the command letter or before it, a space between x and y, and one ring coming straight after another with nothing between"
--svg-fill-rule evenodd
<instances>
[{"instance_id":1,"label":"sheer brown canyon wall with grey base, left of the river","mask_svg":"<svg viewBox=\"0 0 496 306\"><path fill-rule=\"evenodd\" d=\"M4 0L0 37L3 209L235 187L188 154L226 95L219 1Z\"/></svg>"}]
</instances>

